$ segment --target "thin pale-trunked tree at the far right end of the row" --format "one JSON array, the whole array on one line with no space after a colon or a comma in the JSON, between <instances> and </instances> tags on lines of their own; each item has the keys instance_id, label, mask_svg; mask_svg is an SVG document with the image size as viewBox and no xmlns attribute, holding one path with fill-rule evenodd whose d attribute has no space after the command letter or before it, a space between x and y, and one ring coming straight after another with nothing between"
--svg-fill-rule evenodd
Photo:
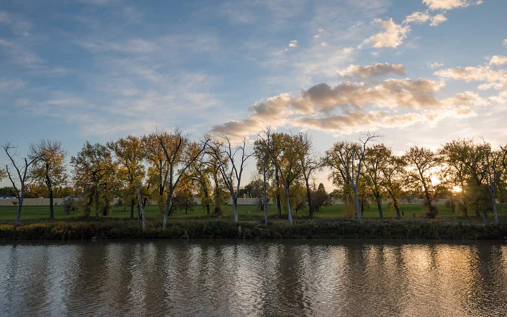
<instances>
[{"instance_id":1,"label":"thin pale-trunked tree at the far right end of the row","mask_svg":"<svg viewBox=\"0 0 507 317\"><path fill-rule=\"evenodd\" d=\"M484 160L482 162L484 170L486 171L486 183L488 186L489 194L491 195L491 203L493 206L493 216L495 223L498 223L498 213L496 211L496 187L500 180L500 176L507 165L505 158L507 151L501 148L500 151L492 151L491 145L486 143L483 139L486 148Z\"/></svg>"}]
</instances>

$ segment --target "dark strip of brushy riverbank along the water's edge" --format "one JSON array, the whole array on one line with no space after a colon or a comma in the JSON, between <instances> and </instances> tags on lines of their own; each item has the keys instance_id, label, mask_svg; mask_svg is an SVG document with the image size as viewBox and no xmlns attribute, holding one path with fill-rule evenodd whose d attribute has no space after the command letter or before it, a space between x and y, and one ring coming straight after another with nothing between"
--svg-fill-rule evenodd
<instances>
[{"instance_id":1,"label":"dark strip of brushy riverbank along the water's edge","mask_svg":"<svg viewBox=\"0 0 507 317\"><path fill-rule=\"evenodd\" d=\"M199 220L169 222L162 228L159 222L148 222L142 232L138 221L82 220L75 222L33 223L15 227L0 225L3 240L46 239L107 239L107 238L413 238L413 239L507 239L507 224L483 224L443 220L300 220L294 225L273 221L233 222Z\"/></svg>"}]
</instances>

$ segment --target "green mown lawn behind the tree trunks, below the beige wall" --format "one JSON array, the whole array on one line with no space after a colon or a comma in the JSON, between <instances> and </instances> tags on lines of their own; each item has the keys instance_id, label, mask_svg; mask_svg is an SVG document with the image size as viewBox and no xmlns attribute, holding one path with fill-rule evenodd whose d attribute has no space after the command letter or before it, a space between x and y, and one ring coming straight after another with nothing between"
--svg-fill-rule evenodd
<instances>
[{"instance_id":1,"label":"green mown lawn behind the tree trunks, below the beige wall","mask_svg":"<svg viewBox=\"0 0 507 317\"><path fill-rule=\"evenodd\" d=\"M342 207L343 205L332 205L323 207L320 212L316 213L315 217L320 219L331 219L331 218L342 218ZM461 214L452 213L452 209L450 207L446 207L445 205L438 205L439 208L439 218L463 218ZM16 209L17 206L0 206L0 223L13 223L16 218ZM224 211L224 219L232 220L232 206L226 206ZM422 208L421 205L401 205L400 210L404 210L405 219L413 218L415 214L416 218L424 218L426 214L426 210ZM499 216L502 219L507 218L507 206L505 204L498 205ZM94 211L92 210L92 214ZM250 220L261 220L264 212L263 210L259 210L259 207L256 205L239 205L238 206L239 220L240 221L250 221ZM276 216L276 205L269 205L268 214L270 217L274 218ZM383 206L383 214L384 218L395 218L396 213L392 207ZM56 220L71 220L75 217L81 215L81 211L78 210L76 212L70 213L70 215L66 215L63 211L62 206L55 206L55 218ZM308 209L300 210L298 213L294 213L295 218L299 217L308 217ZM469 216L474 216L470 214ZM33 223L41 220L47 220L49 217L49 206L23 206L21 210L21 222L22 223ZM107 216L107 218L129 218L130 217L130 207L123 206L115 206L111 215ZM137 217L137 209L135 210L134 217ZM147 206L146 208L146 217L155 221L161 221L162 215L160 215L157 206ZM286 217L284 215L283 217ZM492 215L490 215L490 218ZM205 211L202 206L194 206L194 210L189 211L188 214L185 214L184 210L177 210L172 215L170 215L169 219L203 219L206 218ZM364 218L378 218L377 208L374 205L368 206L364 210ZM475 220L475 218L470 217L470 220Z\"/></svg>"}]
</instances>

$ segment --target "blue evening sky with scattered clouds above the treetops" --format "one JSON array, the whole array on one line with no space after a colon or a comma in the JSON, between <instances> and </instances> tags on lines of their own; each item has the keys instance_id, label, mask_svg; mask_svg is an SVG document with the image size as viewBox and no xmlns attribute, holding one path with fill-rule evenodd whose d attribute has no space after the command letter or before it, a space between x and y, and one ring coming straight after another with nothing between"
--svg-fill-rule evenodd
<instances>
[{"instance_id":1,"label":"blue evening sky with scattered clouds above the treetops","mask_svg":"<svg viewBox=\"0 0 507 317\"><path fill-rule=\"evenodd\" d=\"M367 131L400 154L496 146L506 12L504 0L3 0L0 142L20 159L56 139L70 158L85 140L174 127L251 145L271 126L307 131L319 153ZM331 186L325 171L317 181Z\"/></svg>"}]
</instances>

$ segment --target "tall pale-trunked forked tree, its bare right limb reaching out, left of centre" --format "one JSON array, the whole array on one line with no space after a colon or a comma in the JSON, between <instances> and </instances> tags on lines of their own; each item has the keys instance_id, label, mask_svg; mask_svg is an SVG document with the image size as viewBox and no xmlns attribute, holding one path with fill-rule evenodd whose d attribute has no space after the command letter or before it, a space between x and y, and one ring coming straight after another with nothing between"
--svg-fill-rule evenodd
<instances>
[{"instance_id":1,"label":"tall pale-trunked forked tree, its bare right limb reaching out, left of centre","mask_svg":"<svg viewBox=\"0 0 507 317\"><path fill-rule=\"evenodd\" d=\"M174 131L169 134L169 142L167 142L165 137L166 134L165 132L157 134L169 170L167 200L165 202L164 221L162 223L163 228L167 227L167 217L169 216L171 199L179 180L192 163L204 153L208 146L208 142L211 140L208 136L205 136L199 146L193 147L189 135L184 135L179 129L174 129ZM192 148L195 148L196 152L190 151Z\"/></svg>"}]
</instances>

